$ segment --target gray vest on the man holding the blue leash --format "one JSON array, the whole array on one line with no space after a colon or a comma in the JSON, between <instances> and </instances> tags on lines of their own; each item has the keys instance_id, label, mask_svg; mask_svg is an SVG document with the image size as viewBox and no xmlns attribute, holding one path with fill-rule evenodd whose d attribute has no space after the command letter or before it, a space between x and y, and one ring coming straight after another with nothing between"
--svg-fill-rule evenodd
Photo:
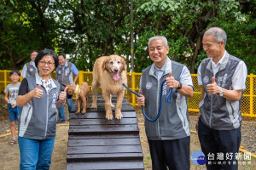
<instances>
[{"instance_id":1,"label":"gray vest on the man holding the blue leash","mask_svg":"<svg viewBox=\"0 0 256 170\"><path fill-rule=\"evenodd\" d=\"M160 105L160 84L168 73L172 71L172 77L179 81L183 66L175 61L167 59L166 70L160 79L154 76L154 65L148 66L143 70L142 93L145 96L145 111L147 116L154 118L158 114ZM171 70L172 67L172 70ZM163 101L160 117L156 122L149 122L145 119L146 133L149 140L170 140L181 139L190 135L189 132L189 112L187 99L172 89L172 102L166 103L166 95L169 93L166 83L162 89Z\"/></svg>"}]
</instances>

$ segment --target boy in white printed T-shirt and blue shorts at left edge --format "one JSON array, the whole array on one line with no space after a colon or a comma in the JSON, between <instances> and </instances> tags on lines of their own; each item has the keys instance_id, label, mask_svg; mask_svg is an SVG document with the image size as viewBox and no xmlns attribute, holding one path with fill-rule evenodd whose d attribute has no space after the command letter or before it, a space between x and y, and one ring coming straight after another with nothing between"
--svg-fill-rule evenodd
<instances>
[{"instance_id":1,"label":"boy in white printed T-shirt and blue shorts at left edge","mask_svg":"<svg viewBox=\"0 0 256 170\"><path fill-rule=\"evenodd\" d=\"M9 73L9 79L12 83L9 83L5 88L5 101L8 103L8 111L9 111L9 120L10 120L10 130L12 134L12 139L9 144L16 144L15 139L15 130L16 130L16 120L19 121L19 113L20 107L16 106L16 99L18 97L18 92L20 88L20 71L13 70Z\"/></svg>"}]
</instances>

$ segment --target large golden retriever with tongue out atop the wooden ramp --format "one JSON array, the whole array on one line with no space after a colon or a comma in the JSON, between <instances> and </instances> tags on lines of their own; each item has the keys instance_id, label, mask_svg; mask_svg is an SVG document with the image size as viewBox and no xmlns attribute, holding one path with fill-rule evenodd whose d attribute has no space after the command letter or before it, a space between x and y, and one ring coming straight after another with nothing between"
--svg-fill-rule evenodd
<instances>
[{"instance_id":1,"label":"large golden retriever with tongue out atop the wooden ramp","mask_svg":"<svg viewBox=\"0 0 256 170\"><path fill-rule=\"evenodd\" d=\"M102 86L102 95L105 100L106 118L113 119L111 95L117 94L115 118L121 119L122 102L125 96L125 88L122 83L127 84L125 59L119 55L102 56L96 59L93 66L92 94L93 102L91 107L97 108L96 93Z\"/></svg>"}]
</instances>

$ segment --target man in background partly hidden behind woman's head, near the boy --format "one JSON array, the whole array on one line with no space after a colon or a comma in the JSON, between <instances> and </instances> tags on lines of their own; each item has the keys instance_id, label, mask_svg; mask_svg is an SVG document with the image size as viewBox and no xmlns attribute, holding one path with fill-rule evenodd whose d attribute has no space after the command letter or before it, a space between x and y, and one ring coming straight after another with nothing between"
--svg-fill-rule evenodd
<instances>
[{"instance_id":1,"label":"man in background partly hidden behind woman's head, near the boy","mask_svg":"<svg viewBox=\"0 0 256 170\"><path fill-rule=\"evenodd\" d=\"M36 50L33 50L30 53L31 61L26 63L23 66L23 69L22 69L22 72L21 72L21 77L23 77L23 78L29 77L29 76L32 76L32 75L36 74L36 72L38 72L38 68L35 65L35 59L36 59L37 55L38 55L38 51L36 51Z\"/></svg>"}]
</instances>

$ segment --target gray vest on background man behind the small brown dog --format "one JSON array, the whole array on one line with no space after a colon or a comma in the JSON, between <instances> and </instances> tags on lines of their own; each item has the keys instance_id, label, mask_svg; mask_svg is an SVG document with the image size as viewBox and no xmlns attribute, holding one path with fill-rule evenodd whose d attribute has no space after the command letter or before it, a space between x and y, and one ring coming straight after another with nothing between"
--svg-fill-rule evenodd
<instances>
[{"instance_id":1,"label":"gray vest on background man behind the small brown dog","mask_svg":"<svg viewBox=\"0 0 256 170\"><path fill-rule=\"evenodd\" d=\"M56 72L58 73L58 82L61 84L61 90L64 90L64 86L62 84L73 84L73 72L71 70L72 63L67 62L64 65L64 69L62 70L61 65L56 68Z\"/></svg>"}]
</instances>

